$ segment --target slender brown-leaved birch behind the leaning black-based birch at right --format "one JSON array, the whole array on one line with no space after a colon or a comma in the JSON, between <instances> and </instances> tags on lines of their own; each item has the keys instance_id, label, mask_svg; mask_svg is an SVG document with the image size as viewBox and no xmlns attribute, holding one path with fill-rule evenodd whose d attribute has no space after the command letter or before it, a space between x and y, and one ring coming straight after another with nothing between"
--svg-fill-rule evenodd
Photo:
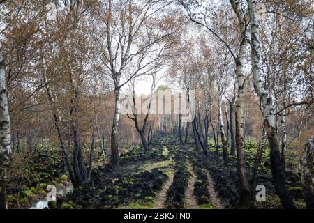
<instances>
[{"instance_id":1,"label":"slender brown-leaved birch behind the leaning black-based birch at right","mask_svg":"<svg viewBox=\"0 0 314 223\"><path fill-rule=\"evenodd\" d=\"M293 107L308 109L306 104L311 105L311 93L301 93L306 92L306 78L300 78L306 77L308 72L308 68L304 70L300 65L306 65L311 56L308 41L311 42L310 33L313 33L313 8L309 7L310 4L310 1L298 4L294 1L265 3L265 10L271 13L260 22L261 72L265 88L274 98L275 123L284 171L285 157L290 153L287 150L288 139L292 137L291 128L287 125L288 116L293 112Z\"/></svg>"}]
</instances>

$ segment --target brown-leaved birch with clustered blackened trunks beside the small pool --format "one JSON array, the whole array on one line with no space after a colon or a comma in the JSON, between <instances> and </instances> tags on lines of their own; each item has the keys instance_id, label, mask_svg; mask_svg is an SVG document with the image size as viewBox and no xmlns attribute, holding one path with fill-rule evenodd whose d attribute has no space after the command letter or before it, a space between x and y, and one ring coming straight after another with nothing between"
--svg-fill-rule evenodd
<instances>
[{"instance_id":1,"label":"brown-leaved birch with clustered blackened trunks beside the small pool","mask_svg":"<svg viewBox=\"0 0 314 223\"><path fill-rule=\"evenodd\" d=\"M89 180L79 122L84 81L91 72L88 56L94 51L92 45L87 43L87 32L83 32L82 1L64 2L63 7L63 10L59 10L55 23L43 19L41 40L38 40L39 59L34 69L45 86L48 106L54 117L59 146L71 183L74 187L79 187ZM56 27L63 31L63 35L53 34ZM63 105L64 100L68 102L66 105ZM72 145L73 154L70 155Z\"/></svg>"}]
</instances>

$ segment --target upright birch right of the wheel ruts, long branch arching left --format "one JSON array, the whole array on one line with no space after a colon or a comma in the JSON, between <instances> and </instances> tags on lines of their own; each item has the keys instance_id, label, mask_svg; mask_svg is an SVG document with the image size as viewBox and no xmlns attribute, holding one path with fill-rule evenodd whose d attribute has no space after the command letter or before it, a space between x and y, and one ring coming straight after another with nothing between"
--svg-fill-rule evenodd
<instances>
[{"instance_id":1,"label":"upright birch right of the wheel ruts, long branch arching left","mask_svg":"<svg viewBox=\"0 0 314 223\"><path fill-rule=\"evenodd\" d=\"M212 6L210 3L208 5L203 5L202 3L198 3L195 1L180 1L182 6L186 9L190 20L203 26L204 29L209 31L214 38L219 40L225 47L228 49L230 54L232 55L235 65L236 65L236 75L237 75L237 101L236 101L236 111L235 111L235 122L236 122L236 144L237 144L237 167L239 174L239 182L240 182L240 203L239 206L241 208L248 208L251 205L251 193L250 187L248 183L248 169L246 167L246 157L244 151L244 105L245 105L245 95L246 95L246 75L244 73L244 63L246 56L246 8L243 1L231 1L230 4L234 13L237 16L238 26L237 31L240 33L238 38L238 45L236 49L232 47L230 44L230 40L224 38L220 30L212 24L210 18L216 17L217 13L214 15L208 15L211 12ZM201 8L201 10L197 9ZM195 13L198 11L198 13ZM225 10L228 11L228 10ZM217 17L216 17L217 18ZM223 24L228 24L227 15L225 15L225 22ZM232 20L232 18L230 18ZM229 21L230 21L229 20ZM233 26L236 26L232 24ZM227 26L230 30L232 27Z\"/></svg>"}]
</instances>

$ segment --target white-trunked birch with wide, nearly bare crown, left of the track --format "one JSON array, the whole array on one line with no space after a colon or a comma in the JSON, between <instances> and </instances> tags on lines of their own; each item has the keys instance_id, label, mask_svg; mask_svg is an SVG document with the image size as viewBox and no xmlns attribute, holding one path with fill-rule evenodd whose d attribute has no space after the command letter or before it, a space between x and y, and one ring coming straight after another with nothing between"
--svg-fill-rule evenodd
<instances>
[{"instance_id":1,"label":"white-trunked birch with wide, nearly bare crown, left of the track","mask_svg":"<svg viewBox=\"0 0 314 223\"><path fill-rule=\"evenodd\" d=\"M165 23L165 20L170 20L161 11L169 4L165 0L109 0L99 3L96 16L95 13L92 15L96 26L91 33L100 48L99 57L94 59L94 63L102 65L98 70L110 77L114 84L111 133L111 162L114 169L119 167L121 88L134 77L149 72L149 65L159 57L150 55L151 52L161 53L165 49L166 45L160 43L172 33L168 28L174 26ZM130 61L136 61L136 66L131 68ZM128 69L132 70L131 74Z\"/></svg>"}]
</instances>

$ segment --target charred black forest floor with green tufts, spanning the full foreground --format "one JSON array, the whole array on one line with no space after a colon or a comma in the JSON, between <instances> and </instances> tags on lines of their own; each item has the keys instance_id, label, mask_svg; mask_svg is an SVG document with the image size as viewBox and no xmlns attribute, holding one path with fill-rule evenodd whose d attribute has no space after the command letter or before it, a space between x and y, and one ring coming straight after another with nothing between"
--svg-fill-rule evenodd
<instances>
[{"instance_id":1,"label":"charred black forest floor with green tufts, spanning the full foreground","mask_svg":"<svg viewBox=\"0 0 314 223\"><path fill-rule=\"evenodd\" d=\"M247 145L246 145L247 146ZM250 143L248 143L250 146ZM214 146L209 145L209 154L196 151L193 141L189 144L179 144L178 137L165 135L151 141L148 150L135 146L127 153L120 156L120 167L113 170L109 165L95 167L91 180L82 187L75 188L66 197L58 197L57 202L51 208L202 208L222 209L237 208L239 203L238 177L236 157L230 157L230 163L223 164L221 151L215 152ZM254 147L251 145L251 147ZM248 151L247 162L250 170L255 152ZM40 158L42 155L45 158ZM45 194L44 187L51 180L62 184L66 176L57 169L60 160L50 157L45 153L33 157L33 160L44 162L36 164L28 169L33 171L25 190L15 194L22 194L17 201L28 198L29 202L36 197ZM52 160L54 162L52 162ZM267 160L267 155L264 157ZM48 165L48 163L50 165ZM45 166L45 168L44 168ZM60 167L60 166L59 166ZM50 168L54 175L46 176L45 172ZM259 169L260 174L270 176L269 165L265 161ZM267 175L268 174L268 175ZM45 176L45 179L42 179ZM9 192L13 192L13 179ZM257 184L267 188L266 202L253 202L253 208L281 208L281 203L274 191L271 178L261 178ZM287 177L287 187L294 198L298 208L304 208L303 192L299 177L294 174ZM24 194L24 195L23 195ZM15 195L17 196L17 195ZM13 198L12 198L13 197ZM15 201L13 199L13 201ZM21 202L20 202L21 203ZM16 206L13 206L15 204ZM19 202L10 203L13 208L21 208ZM24 203L24 206L29 203ZM22 206L23 207L23 206Z\"/></svg>"}]
</instances>

